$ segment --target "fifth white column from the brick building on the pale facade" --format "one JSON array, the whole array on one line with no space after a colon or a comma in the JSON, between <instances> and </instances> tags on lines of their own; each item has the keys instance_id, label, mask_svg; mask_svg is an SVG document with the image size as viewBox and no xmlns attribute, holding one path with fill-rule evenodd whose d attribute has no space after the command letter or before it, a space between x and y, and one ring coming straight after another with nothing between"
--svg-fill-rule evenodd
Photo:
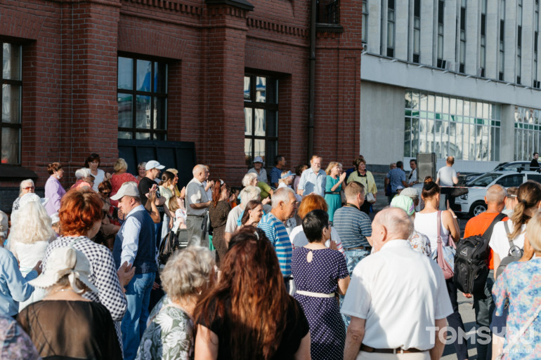
<instances>
[{"instance_id":1,"label":"fifth white column from the brick building on the pale facade","mask_svg":"<svg viewBox=\"0 0 541 360\"><path fill-rule=\"evenodd\" d=\"M466 1L466 74L478 75L481 8L478 1ZM459 59L460 60L460 59Z\"/></svg>"}]
</instances>

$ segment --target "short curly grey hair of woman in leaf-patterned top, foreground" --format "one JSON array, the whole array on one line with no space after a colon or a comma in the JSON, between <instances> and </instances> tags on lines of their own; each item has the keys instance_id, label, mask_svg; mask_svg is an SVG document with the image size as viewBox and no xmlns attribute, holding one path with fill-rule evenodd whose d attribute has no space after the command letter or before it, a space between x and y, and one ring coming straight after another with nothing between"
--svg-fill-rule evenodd
<instances>
[{"instance_id":1,"label":"short curly grey hair of woman in leaf-patterned top, foreground","mask_svg":"<svg viewBox=\"0 0 541 360\"><path fill-rule=\"evenodd\" d=\"M208 283L212 269L214 257L209 249L191 246L176 251L160 274L162 286L171 300L197 294L198 288Z\"/></svg>"}]
</instances>

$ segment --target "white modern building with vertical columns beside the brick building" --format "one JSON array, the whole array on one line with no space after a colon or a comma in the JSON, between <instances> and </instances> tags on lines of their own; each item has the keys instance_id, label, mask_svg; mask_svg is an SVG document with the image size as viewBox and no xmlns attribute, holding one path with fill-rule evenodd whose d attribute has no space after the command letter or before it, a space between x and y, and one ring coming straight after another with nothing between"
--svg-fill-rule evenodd
<instances>
[{"instance_id":1,"label":"white modern building with vertical columns beside the brick building","mask_svg":"<svg viewBox=\"0 0 541 360\"><path fill-rule=\"evenodd\" d=\"M488 171L541 152L540 0L364 0L360 153Z\"/></svg>"}]
</instances>

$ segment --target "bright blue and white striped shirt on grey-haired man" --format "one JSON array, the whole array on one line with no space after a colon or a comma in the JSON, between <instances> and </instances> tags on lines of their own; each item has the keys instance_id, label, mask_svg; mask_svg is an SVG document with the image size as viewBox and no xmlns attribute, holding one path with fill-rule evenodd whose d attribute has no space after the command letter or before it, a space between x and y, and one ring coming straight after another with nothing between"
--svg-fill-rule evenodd
<instances>
[{"instance_id":1,"label":"bright blue and white striped shirt on grey-haired man","mask_svg":"<svg viewBox=\"0 0 541 360\"><path fill-rule=\"evenodd\" d=\"M265 232L267 238L271 241L278 256L280 270L284 277L291 276L291 256L293 248L289 235L285 229L284 223L278 220L273 213L263 215L259 225L259 229Z\"/></svg>"}]
</instances>

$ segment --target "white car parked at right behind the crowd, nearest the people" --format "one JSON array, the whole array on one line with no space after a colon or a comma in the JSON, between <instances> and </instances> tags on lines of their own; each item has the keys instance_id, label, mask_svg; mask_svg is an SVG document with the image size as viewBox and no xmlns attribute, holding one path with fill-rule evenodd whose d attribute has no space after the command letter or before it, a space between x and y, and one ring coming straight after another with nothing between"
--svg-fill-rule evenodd
<instances>
[{"instance_id":1,"label":"white car parked at right behind the crowd, nearest the people","mask_svg":"<svg viewBox=\"0 0 541 360\"><path fill-rule=\"evenodd\" d=\"M529 163L528 163L529 166ZM520 169L519 169L520 170ZM519 187L528 180L541 182L541 173L538 171L490 171L478 178L467 182L468 193L455 198L455 213L477 216L486 211L486 189L494 184L503 187Z\"/></svg>"}]
</instances>

